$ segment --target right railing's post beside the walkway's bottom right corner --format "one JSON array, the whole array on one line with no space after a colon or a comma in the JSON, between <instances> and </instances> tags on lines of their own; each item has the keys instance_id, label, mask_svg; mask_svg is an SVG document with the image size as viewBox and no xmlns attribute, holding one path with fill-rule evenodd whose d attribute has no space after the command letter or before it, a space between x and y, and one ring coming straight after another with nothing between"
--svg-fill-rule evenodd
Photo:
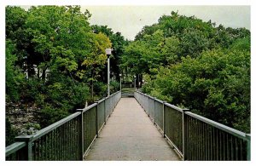
<instances>
[{"instance_id":1,"label":"right railing's post beside the walkway's bottom right corner","mask_svg":"<svg viewBox=\"0 0 256 166\"><path fill-rule=\"evenodd\" d=\"M183 109L183 160L187 160L187 142L186 139L188 138L187 131L188 131L188 121L185 112L189 112L189 109Z\"/></svg>"}]
</instances>

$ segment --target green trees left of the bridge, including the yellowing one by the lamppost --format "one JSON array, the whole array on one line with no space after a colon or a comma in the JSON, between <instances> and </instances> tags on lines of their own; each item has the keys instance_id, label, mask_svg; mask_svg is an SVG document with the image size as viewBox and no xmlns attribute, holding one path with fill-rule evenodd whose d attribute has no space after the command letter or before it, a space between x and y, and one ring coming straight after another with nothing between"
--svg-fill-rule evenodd
<instances>
[{"instance_id":1,"label":"green trees left of the bridge, including the yellowing one by the lamppost","mask_svg":"<svg viewBox=\"0 0 256 166\"><path fill-rule=\"evenodd\" d=\"M94 31L89 19L79 6L6 7L6 101L42 108L41 128L107 94L105 49L119 51L125 39ZM119 76L119 60L114 67Z\"/></svg>"}]
</instances>

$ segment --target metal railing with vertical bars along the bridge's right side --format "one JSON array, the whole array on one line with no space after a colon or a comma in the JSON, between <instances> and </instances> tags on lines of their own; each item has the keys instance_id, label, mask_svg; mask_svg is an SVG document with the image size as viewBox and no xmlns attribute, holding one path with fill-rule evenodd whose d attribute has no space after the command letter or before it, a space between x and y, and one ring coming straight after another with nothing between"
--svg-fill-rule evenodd
<instances>
[{"instance_id":1,"label":"metal railing with vertical bars along the bridge's right side","mask_svg":"<svg viewBox=\"0 0 256 166\"><path fill-rule=\"evenodd\" d=\"M183 160L251 160L251 135L147 94L134 96Z\"/></svg>"}]
</instances>

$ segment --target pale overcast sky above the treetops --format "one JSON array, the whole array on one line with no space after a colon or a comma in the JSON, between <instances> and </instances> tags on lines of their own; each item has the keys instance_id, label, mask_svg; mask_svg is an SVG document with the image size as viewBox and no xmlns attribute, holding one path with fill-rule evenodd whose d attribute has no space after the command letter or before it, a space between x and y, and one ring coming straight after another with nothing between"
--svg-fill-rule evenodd
<instances>
[{"instance_id":1,"label":"pale overcast sky above the treetops","mask_svg":"<svg viewBox=\"0 0 256 166\"><path fill-rule=\"evenodd\" d=\"M92 14L90 24L108 26L133 40L143 26L157 22L161 15L172 11L201 20L212 20L225 27L246 27L250 30L250 6L82 6Z\"/></svg>"}]
</instances>

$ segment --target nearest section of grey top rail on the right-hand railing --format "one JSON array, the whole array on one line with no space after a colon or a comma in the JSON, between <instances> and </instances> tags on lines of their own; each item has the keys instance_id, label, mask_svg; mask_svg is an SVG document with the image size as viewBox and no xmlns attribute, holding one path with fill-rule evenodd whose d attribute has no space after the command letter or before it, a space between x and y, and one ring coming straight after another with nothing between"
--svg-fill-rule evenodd
<instances>
[{"instance_id":1,"label":"nearest section of grey top rail on the right-hand railing","mask_svg":"<svg viewBox=\"0 0 256 166\"><path fill-rule=\"evenodd\" d=\"M212 121L212 120L208 119L207 117L201 117L200 115L197 115L197 114L192 113L192 112L184 112L184 113L191 116L191 117L195 117L196 119L201 120L204 123L208 123L208 124L212 125L215 128L224 130L225 132L230 133L231 135L236 135L237 137L239 137L243 140L247 140L247 136L246 136L247 134L243 133L243 132L241 132L237 129L230 128L228 126L225 126L222 123L217 123L215 121Z\"/></svg>"}]
</instances>

